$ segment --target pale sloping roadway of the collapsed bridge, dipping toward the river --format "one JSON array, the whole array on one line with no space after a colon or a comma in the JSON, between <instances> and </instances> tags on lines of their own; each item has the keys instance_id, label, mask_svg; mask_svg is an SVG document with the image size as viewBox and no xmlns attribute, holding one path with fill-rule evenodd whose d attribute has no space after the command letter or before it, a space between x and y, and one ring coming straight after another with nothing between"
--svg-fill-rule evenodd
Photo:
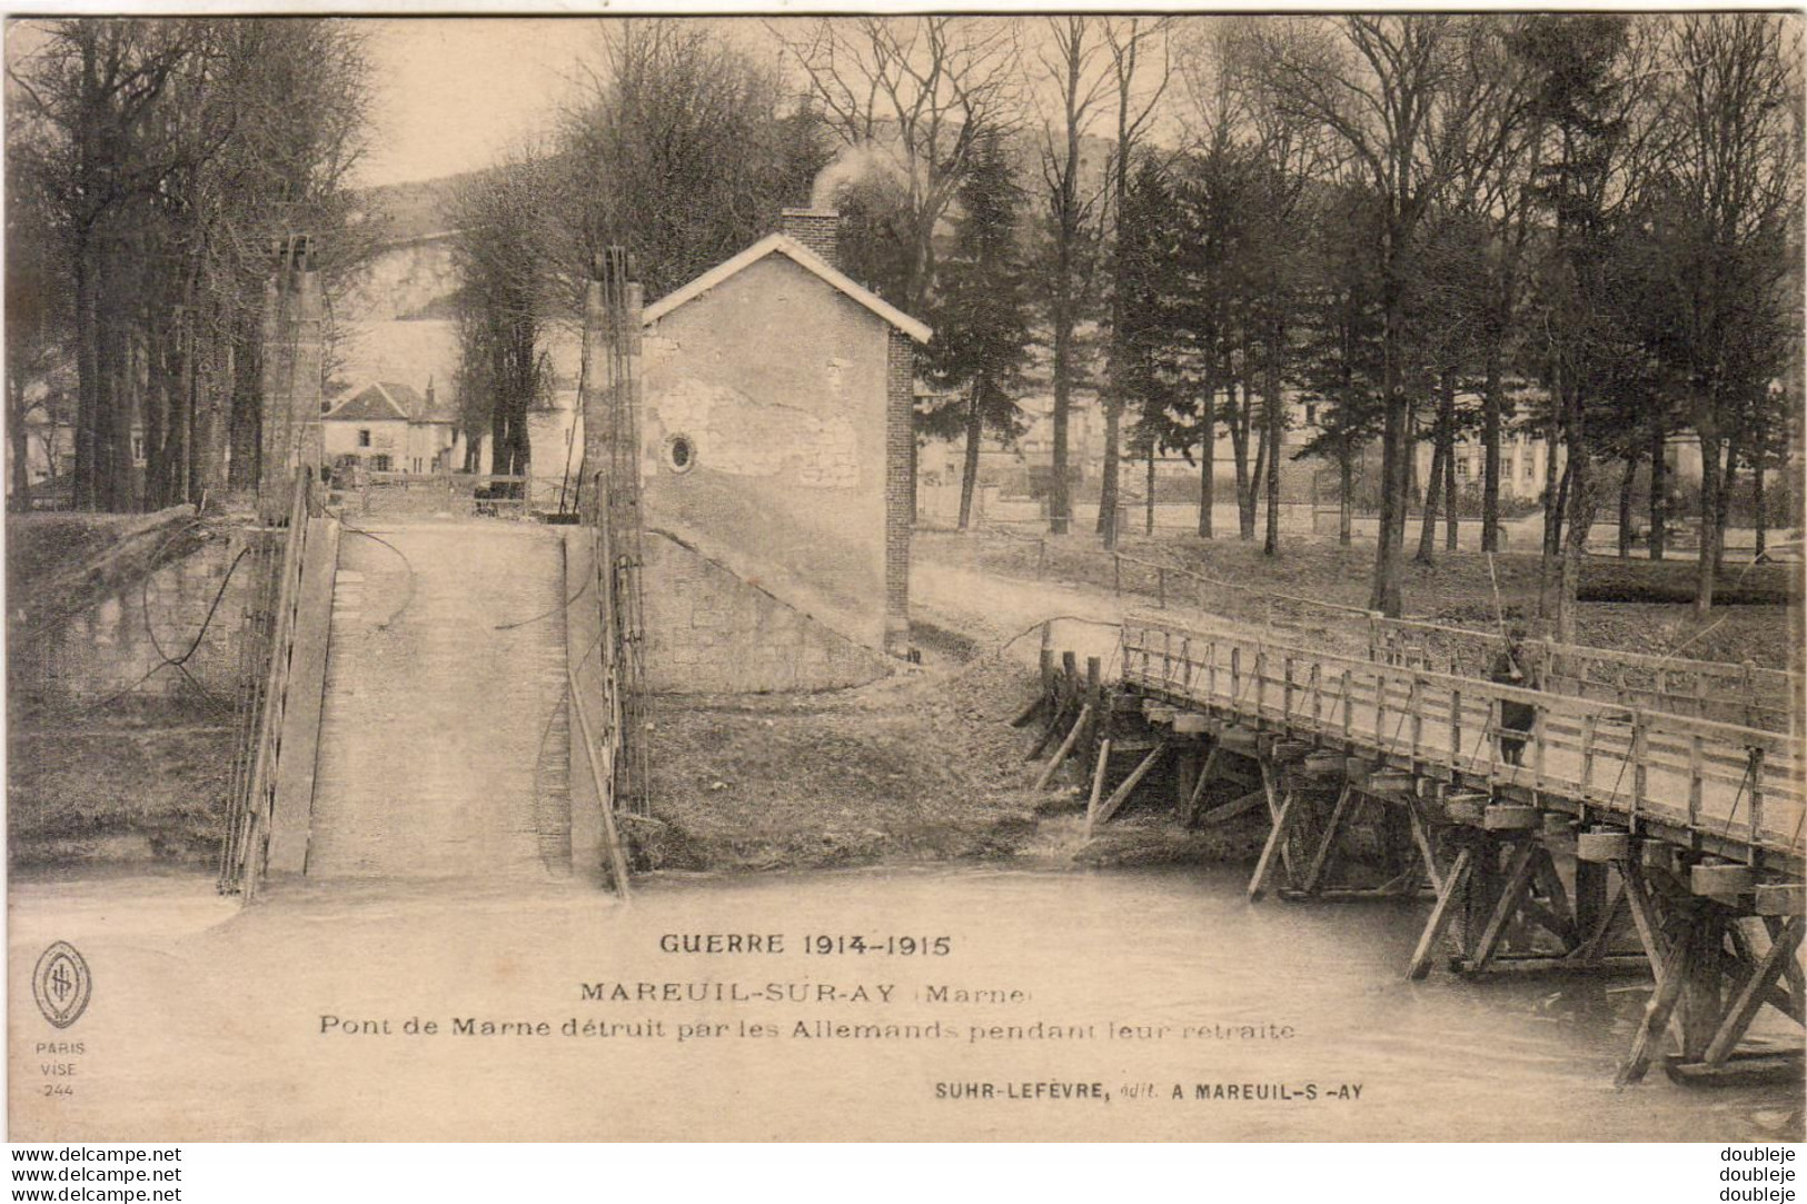
<instances>
[{"instance_id":1,"label":"pale sloping roadway of the collapsed bridge, dipping toward the river","mask_svg":"<svg viewBox=\"0 0 1807 1204\"><path fill-rule=\"evenodd\" d=\"M307 877L569 875L560 533L369 522L340 541Z\"/></svg>"}]
</instances>

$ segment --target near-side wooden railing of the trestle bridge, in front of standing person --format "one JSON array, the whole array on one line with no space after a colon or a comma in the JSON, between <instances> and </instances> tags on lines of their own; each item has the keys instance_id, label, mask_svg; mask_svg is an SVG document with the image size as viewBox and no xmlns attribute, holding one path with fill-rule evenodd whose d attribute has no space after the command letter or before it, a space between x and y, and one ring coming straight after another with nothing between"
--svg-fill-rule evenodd
<instances>
[{"instance_id":1,"label":"near-side wooden railing of the trestle bridge, in front of standing person","mask_svg":"<svg viewBox=\"0 0 1807 1204\"><path fill-rule=\"evenodd\" d=\"M1794 736L1144 618L1124 624L1122 680L1267 730L1682 828L1702 848L1802 857ZM1509 703L1529 707L1523 729L1502 723Z\"/></svg>"}]
</instances>

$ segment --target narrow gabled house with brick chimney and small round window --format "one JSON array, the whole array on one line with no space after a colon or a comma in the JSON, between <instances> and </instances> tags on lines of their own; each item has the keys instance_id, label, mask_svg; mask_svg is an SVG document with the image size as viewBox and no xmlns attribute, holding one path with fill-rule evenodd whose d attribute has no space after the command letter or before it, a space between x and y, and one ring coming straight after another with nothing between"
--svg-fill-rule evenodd
<instances>
[{"instance_id":1,"label":"narrow gabled house with brick chimney and small round window","mask_svg":"<svg viewBox=\"0 0 1807 1204\"><path fill-rule=\"evenodd\" d=\"M640 477L647 680L833 689L909 645L911 387L929 327L784 228L649 306Z\"/></svg>"}]
</instances>

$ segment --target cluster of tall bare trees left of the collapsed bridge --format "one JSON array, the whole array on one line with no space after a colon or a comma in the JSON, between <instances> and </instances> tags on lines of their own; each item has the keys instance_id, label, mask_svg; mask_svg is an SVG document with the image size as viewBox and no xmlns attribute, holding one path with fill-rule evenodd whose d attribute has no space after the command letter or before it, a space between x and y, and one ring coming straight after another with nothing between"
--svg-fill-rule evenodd
<instances>
[{"instance_id":1,"label":"cluster of tall bare trees left of the collapsed bridge","mask_svg":"<svg viewBox=\"0 0 1807 1204\"><path fill-rule=\"evenodd\" d=\"M22 22L7 61L7 441L70 428L83 510L255 486L264 291L309 235L370 249L347 184L369 61L345 20Z\"/></svg>"}]
</instances>

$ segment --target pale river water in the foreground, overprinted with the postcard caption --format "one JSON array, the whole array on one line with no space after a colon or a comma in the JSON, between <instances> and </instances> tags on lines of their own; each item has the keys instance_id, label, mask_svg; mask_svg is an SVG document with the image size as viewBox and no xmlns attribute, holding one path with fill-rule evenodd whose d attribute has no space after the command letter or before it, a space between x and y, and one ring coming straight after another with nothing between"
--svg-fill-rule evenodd
<instances>
[{"instance_id":1,"label":"pale river water in the foreground, overprinted with the postcard caption","mask_svg":"<svg viewBox=\"0 0 1807 1204\"><path fill-rule=\"evenodd\" d=\"M1422 906L1241 886L931 868L239 909L186 875L14 879L13 1137L1800 1139L1798 1088L1612 1086L1646 980L1408 983ZM707 935L743 949L681 951ZM31 996L52 940L92 974L61 1032Z\"/></svg>"}]
</instances>

